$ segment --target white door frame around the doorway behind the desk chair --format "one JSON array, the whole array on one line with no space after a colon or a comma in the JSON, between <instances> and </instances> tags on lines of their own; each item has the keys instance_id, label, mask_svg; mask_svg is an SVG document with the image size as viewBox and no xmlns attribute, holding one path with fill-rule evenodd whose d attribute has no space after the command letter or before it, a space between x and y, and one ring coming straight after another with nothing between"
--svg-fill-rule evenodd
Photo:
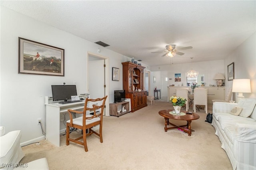
<instances>
[{"instance_id":1,"label":"white door frame around the doorway behind the desk chair","mask_svg":"<svg viewBox=\"0 0 256 170\"><path fill-rule=\"evenodd\" d=\"M105 95L107 95L107 99L105 102L106 108L105 110L105 116L110 116L109 114L109 58L105 57L103 55L99 55L97 53L93 53L90 51L87 51L87 65L86 65L86 91L87 93L89 93L89 55L93 55L94 57L100 58L100 59L104 59L105 60Z\"/></svg>"}]
</instances>

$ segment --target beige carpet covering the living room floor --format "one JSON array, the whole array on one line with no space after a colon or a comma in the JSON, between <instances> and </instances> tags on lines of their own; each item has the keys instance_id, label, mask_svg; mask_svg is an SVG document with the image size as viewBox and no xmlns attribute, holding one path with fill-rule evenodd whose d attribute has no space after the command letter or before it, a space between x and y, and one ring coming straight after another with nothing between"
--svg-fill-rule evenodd
<instances>
[{"instance_id":1,"label":"beige carpet covering the living room floor","mask_svg":"<svg viewBox=\"0 0 256 170\"><path fill-rule=\"evenodd\" d=\"M25 157L20 163L46 157L50 170L231 170L214 127L205 122L204 110L196 112L200 119L192 121L191 136L177 129L164 132L164 118L158 111L172 108L168 102L155 101L134 113L104 117L103 143L95 134L88 136L88 152L73 142L66 146L65 135L60 137L60 147L50 142L22 147ZM208 112L211 109L209 105Z\"/></svg>"}]
</instances>

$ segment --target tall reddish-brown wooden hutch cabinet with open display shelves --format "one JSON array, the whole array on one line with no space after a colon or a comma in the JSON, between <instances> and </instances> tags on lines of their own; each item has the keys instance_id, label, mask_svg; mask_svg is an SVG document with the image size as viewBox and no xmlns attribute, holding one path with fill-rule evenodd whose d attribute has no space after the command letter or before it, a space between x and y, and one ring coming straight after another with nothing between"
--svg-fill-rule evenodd
<instances>
[{"instance_id":1,"label":"tall reddish-brown wooden hutch cabinet with open display shelves","mask_svg":"<svg viewBox=\"0 0 256 170\"><path fill-rule=\"evenodd\" d=\"M131 99L131 112L148 106L146 91L143 91L145 67L130 61L126 61L122 65L123 89L125 90L125 97Z\"/></svg>"}]
</instances>

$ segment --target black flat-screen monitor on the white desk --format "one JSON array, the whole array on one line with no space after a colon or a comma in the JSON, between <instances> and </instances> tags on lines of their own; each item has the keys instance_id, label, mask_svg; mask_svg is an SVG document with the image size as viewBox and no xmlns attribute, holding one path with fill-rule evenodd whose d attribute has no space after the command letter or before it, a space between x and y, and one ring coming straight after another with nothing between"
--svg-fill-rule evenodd
<instances>
[{"instance_id":1,"label":"black flat-screen monitor on the white desk","mask_svg":"<svg viewBox=\"0 0 256 170\"><path fill-rule=\"evenodd\" d=\"M76 85L52 85L52 100L68 101L71 96L76 96Z\"/></svg>"}]
</instances>

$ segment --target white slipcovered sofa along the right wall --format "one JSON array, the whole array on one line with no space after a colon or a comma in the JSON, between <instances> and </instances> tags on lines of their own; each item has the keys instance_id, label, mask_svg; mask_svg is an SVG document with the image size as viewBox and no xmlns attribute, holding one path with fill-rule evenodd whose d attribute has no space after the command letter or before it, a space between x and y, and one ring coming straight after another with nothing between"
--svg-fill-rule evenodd
<instances>
[{"instance_id":1,"label":"white slipcovered sofa along the right wall","mask_svg":"<svg viewBox=\"0 0 256 170\"><path fill-rule=\"evenodd\" d=\"M234 170L256 170L255 105L256 99L241 99L239 103L213 103L212 126ZM234 107L242 107L240 115L231 114Z\"/></svg>"}]
</instances>

